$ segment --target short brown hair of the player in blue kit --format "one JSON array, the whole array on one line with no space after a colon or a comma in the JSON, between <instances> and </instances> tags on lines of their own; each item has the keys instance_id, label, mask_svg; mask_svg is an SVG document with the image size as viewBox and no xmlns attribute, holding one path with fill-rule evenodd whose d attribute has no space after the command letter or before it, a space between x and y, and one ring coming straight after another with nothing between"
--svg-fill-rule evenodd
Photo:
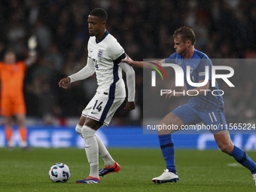
<instances>
[{"instance_id":1,"label":"short brown hair of the player in blue kit","mask_svg":"<svg viewBox=\"0 0 256 192\"><path fill-rule=\"evenodd\" d=\"M174 32L173 38L177 38L178 36L180 36L181 40L184 42L190 40L192 45L196 44L196 34L194 33L193 29L189 26L182 26L178 28Z\"/></svg>"}]
</instances>

